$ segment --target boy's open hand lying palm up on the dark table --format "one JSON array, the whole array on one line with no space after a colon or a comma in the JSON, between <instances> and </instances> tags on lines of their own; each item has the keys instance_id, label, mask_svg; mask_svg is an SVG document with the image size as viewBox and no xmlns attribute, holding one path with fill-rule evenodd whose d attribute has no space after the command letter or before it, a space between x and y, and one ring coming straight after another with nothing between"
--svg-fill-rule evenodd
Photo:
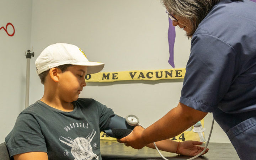
<instances>
[{"instance_id":1,"label":"boy's open hand lying palm up on the dark table","mask_svg":"<svg viewBox=\"0 0 256 160\"><path fill-rule=\"evenodd\" d=\"M201 144L202 142L193 141L193 140L180 142L180 145L178 146L177 154L186 155L186 156L195 156L201 153L201 151L203 151L204 147L198 146ZM207 153L208 150L209 149L207 148L203 154Z\"/></svg>"}]
</instances>

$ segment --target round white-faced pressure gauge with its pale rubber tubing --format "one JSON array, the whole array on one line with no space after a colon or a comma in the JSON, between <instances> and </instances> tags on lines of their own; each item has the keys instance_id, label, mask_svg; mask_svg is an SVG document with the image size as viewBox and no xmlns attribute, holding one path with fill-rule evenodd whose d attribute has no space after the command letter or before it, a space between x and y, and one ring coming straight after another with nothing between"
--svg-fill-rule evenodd
<instances>
[{"instance_id":1,"label":"round white-faced pressure gauge with its pale rubber tubing","mask_svg":"<svg viewBox=\"0 0 256 160\"><path fill-rule=\"evenodd\" d=\"M137 116L133 115L133 114L129 114L128 116L126 116L126 122L127 122L130 126L141 126L142 128L145 129L145 127L143 127L141 124L139 124L139 118L138 118ZM199 154L196 155L196 156L193 156L193 157L190 158L190 159L187 159L187 160L192 160L192 159L195 159L195 158L201 156L201 155L204 153L204 151L207 149L207 146L208 146L209 140L210 140L210 136L212 135L213 123L214 123L214 119L212 120L212 127L211 127L211 129L210 129L209 138L208 138L207 143L206 143L206 146L204 147L204 149L202 150L202 152L199 153ZM162 159L168 160L167 158L165 158L165 157L161 154L161 152L160 152L160 150L158 149L158 147L156 146L155 142L154 142L153 144L154 144L156 150L158 151L158 153L160 154L160 156L162 157Z\"/></svg>"}]
</instances>

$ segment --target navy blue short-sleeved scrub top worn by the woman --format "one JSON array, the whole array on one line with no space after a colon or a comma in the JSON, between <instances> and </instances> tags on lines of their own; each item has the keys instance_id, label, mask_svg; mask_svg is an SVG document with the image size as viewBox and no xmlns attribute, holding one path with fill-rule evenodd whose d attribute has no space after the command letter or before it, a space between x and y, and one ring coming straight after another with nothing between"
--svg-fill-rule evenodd
<instances>
[{"instance_id":1,"label":"navy blue short-sleeved scrub top worn by the woman","mask_svg":"<svg viewBox=\"0 0 256 160\"><path fill-rule=\"evenodd\" d=\"M243 128L256 127L255 2L222 0L199 24L191 40L180 102L213 112L230 139ZM256 139L256 134L252 136Z\"/></svg>"}]
</instances>

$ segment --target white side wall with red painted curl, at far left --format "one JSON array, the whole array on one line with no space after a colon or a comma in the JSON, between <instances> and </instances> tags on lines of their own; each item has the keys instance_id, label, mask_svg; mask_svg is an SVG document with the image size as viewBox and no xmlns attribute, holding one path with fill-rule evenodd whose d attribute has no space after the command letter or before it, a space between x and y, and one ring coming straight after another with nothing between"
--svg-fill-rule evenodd
<instances>
[{"instance_id":1,"label":"white side wall with red painted curl, at far left","mask_svg":"<svg viewBox=\"0 0 256 160\"><path fill-rule=\"evenodd\" d=\"M16 118L25 108L26 56L30 46L32 0L1 0L0 28L12 23L14 36L0 30L0 143L11 131ZM9 34L12 27L7 27Z\"/></svg>"}]
</instances>

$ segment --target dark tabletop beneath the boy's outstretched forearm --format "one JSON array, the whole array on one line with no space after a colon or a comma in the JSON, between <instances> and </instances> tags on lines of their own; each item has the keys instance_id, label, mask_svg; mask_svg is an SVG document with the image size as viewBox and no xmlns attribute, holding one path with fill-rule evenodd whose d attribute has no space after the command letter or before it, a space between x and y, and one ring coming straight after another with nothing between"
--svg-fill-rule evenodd
<instances>
[{"instance_id":1,"label":"dark tabletop beneath the boy's outstretched forearm","mask_svg":"<svg viewBox=\"0 0 256 160\"><path fill-rule=\"evenodd\" d=\"M195 160L240 160L234 147L230 143L209 143L209 151ZM165 158L170 160L186 160L190 156L176 155L161 151ZM161 156L155 149L144 147L140 150L127 147L115 140L101 140L102 160L161 160Z\"/></svg>"}]
</instances>

